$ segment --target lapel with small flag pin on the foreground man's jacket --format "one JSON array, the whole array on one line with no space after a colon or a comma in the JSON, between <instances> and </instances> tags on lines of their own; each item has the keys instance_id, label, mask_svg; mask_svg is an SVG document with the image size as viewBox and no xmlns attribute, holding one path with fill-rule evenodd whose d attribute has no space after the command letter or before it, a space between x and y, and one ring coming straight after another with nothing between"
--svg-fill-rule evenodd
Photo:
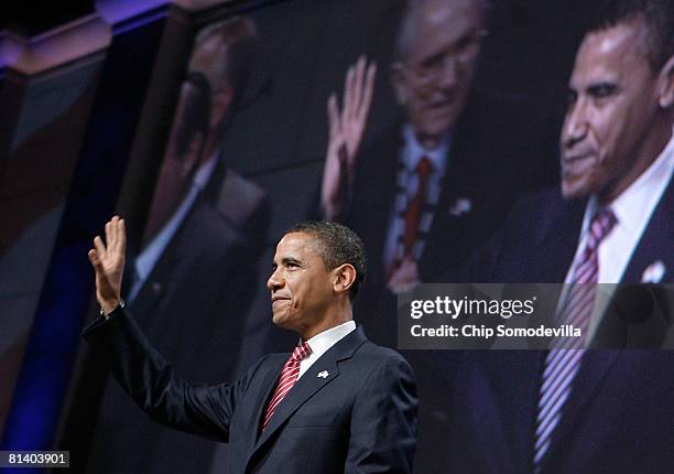
<instances>
[{"instance_id":1,"label":"lapel with small flag pin on the foreground man's jacket","mask_svg":"<svg viewBox=\"0 0 674 474\"><path fill-rule=\"evenodd\" d=\"M356 331L345 336L341 341L330 347L325 354L323 354L318 360L316 360L312 367L302 375L300 380L294 387L287 392L283 401L279 405L274 414L271 417L269 424L264 431L260 434L260 438L254 443L254 448L250 451L248 462L256 455L256 453L268 442L270 438L274 435L287 419L295 412L300 407L307 402L317 391L328 386L330 381L339 376L338 363L347 358L352 357L354 353L360 345L367 341L365 333L361 327L357 327ZM326 378L318 377L318 373L327 370L328 376ZM273 379L272 388L267 390L263 402L260 403L262 408L258 408L258 418L256 425L256 433L258 427L261 424L262 413L267 409L267 400L271 396L271 390L275 388L275 381L280 375L281 367L278 369L278 374ZM259 401L259 400L258 400Z\"/></svg>"}]
</instances>

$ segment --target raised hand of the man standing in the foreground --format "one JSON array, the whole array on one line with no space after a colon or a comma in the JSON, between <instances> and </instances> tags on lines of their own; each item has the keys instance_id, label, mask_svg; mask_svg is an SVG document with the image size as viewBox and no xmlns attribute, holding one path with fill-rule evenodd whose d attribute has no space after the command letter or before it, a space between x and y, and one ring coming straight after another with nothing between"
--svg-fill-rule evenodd
<instances>
[{"instance_id":1,"label":"raised hand of the man standing in the foreground","mask_svg":"<svg viewBox=\"0 0 674 474\"><path fill-rule=\"evenodd\" d=\"M106 314L110 313L121 300L126 248L124 220L115 216L106 224L106 243L96 236L94 248L88 254L96 271L96 299Z\"/></svg>"}]
</instances>

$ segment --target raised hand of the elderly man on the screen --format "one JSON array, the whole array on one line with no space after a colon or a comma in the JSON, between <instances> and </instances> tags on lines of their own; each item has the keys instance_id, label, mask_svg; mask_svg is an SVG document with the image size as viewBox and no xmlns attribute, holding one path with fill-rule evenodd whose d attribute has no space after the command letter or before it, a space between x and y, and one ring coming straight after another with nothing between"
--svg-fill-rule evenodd
<instances>
[{"instance_id":1,"label":"raised hand of the elderly man on the screen","mask_svg":"<svg viewBox=\"0 0 674 474\"><path fill-rule=\"evenodd\" d=\"M367 63L366 56L360 56L349 67L341 110L335 93L328 98L329 139L320 186L320 205L327 220L343 211L345 188L354 179L356 155L365 134L377 74L377 64Z\"/></svg>"}]
</instances>

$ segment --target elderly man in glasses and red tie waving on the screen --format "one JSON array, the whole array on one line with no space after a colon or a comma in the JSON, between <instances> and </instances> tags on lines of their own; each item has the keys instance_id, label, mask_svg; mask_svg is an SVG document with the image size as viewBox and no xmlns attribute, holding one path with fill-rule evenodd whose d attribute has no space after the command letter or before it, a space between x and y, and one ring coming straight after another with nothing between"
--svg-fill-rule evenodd
<instances>
[{"instance_id":1,"label":"elderly man in glasses and red tie waving on the screen","mask_svg":"<svg viewBox=\"0 0 674 474\"><path fill-rule=\"evenodd\" d=\"M367 146L377 65L361 57L341 107L328 99L322 217L361 235L372 265L358 311L388 344L391 293L444 274L521 194L552 183L546 120L475 87L489 13L486 0L409 1L390 66L402 116Z\"/></svg>"}]
</instances>

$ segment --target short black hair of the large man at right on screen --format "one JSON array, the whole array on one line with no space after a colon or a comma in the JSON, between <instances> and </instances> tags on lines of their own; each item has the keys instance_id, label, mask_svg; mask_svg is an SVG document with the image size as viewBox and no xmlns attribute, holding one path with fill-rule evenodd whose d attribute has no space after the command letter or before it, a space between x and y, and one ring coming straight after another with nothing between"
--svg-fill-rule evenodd
<instances>
[{"instance_id":1,"label":"short black hair of the large man at right on screen","mask_svg":"<svg viewBox=\"0 0 674 474\"><path fill-rule=\"evenodd\" d=\"M674 55L673 0L597 0L586 33L639 18L643 19L648 30L649 62L659 71Z\"/></svg>"}]
</instances>

